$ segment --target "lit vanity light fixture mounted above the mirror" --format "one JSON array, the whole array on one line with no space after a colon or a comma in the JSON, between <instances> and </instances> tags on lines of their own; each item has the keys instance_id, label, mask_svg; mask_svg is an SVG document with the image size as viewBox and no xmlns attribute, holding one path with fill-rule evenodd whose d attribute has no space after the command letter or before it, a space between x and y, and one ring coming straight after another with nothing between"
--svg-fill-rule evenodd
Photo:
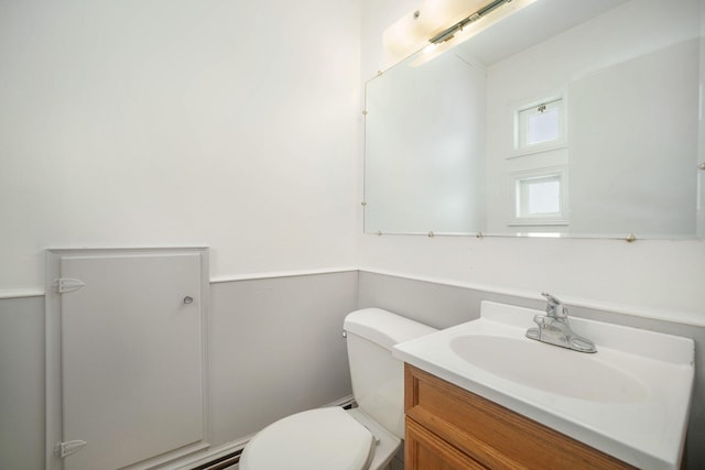
<instances>
[{"instance_id":1,"label":"lit vanity light fixture mounted above the mirror","mask_svg":"<svg viewBox=\"0 0 705 470\"><path fill-rule=\"evenodd\" d=\"M384 47L394 62L423 50L421 65L534 1L426 0L384 31Z\"/></svg>"}]
</instances>

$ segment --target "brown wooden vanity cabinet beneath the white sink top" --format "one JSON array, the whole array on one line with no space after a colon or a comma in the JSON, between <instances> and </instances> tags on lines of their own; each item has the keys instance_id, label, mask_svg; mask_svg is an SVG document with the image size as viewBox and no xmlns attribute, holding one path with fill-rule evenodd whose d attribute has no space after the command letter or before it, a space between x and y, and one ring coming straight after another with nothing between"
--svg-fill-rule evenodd
<instances>
[{"instance_id":1,"label":"brown wooden vanity cabinet beneath the white sink top","mask_svg":"<svg viewBox=\"0 0 705 470\"><path fill-rule=\"evenodd\" d=\"M404 365L406 470L634 469L413 365Z\"/></svg>"}]
</instances>

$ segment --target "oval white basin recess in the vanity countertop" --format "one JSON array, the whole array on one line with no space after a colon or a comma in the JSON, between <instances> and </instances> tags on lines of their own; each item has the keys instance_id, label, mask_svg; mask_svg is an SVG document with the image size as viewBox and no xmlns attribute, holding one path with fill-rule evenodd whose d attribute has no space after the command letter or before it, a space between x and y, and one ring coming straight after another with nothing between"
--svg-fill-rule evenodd
<instances>
[{"instance_id":1,"label":"oval white basin recess in the vanity countertop","mask_svg":"<svg viewBox=\"0 0 705 470\"><path fill-rule=\"evenodd\" d=\"M449 345L460 359L477 368L547 393L611 403L639 402L648 394L638 379L592 354L525 338L488 335L458 336Z\"/></svg>"}]
</instances>

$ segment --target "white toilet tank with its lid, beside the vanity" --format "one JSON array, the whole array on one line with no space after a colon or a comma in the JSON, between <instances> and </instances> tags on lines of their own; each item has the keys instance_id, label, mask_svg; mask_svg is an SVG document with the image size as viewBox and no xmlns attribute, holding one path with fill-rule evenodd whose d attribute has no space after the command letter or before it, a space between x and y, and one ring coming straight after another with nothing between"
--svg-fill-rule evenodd
<instances>
[{"instance_id":1,"label":"white toilet tank with its lid, beside the vanity","mask_svg":"<svg viewBox=\"0 0 705 470\"><path fill-rule=\"evenodd\" d=\"M404 367L392 347L436 331L381 308L345 317L352 395L360 409L399 438L404 438Z\"/></svg>"}]
</instances>

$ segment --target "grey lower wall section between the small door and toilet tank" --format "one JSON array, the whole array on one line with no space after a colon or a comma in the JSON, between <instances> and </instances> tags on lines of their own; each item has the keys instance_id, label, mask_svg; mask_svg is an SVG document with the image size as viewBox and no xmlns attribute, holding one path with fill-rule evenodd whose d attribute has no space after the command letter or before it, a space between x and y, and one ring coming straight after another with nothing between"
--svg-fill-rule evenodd
<instances>
[{"instance_id":1,"label":"grey lower wall section between the small door and toilet tank","mask_svg":"<svg viewBox=\"0 0 705 470\"><path fill-rule=\"evenodd\" d=\"M210 286L213 444L351 393L343 319L357 271Z\"/></svg>"}]
</instances>

